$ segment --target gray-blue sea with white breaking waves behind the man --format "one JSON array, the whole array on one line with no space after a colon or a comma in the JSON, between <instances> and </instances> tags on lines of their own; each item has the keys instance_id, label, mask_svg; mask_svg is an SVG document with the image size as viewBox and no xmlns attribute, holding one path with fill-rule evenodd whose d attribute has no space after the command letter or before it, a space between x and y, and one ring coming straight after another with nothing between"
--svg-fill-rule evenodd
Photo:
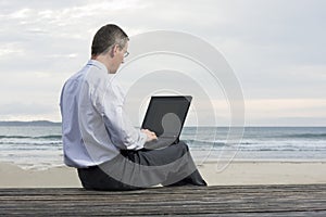
<instances>
[{"instance_id":1,"label":"gray-blue sea with white breaking waves behind the man","mask_svg":"<svg viewBox=\"0 0 326 217\"><path fill-rule=\"evenodd\" d=\"M180 139L196 162L325 161L326 127L246 127L239 142L228 143L227 127L185 127ZM0 162L24 169L63 165L60 124L1 124Z\"/></svg>"}]
</instances>

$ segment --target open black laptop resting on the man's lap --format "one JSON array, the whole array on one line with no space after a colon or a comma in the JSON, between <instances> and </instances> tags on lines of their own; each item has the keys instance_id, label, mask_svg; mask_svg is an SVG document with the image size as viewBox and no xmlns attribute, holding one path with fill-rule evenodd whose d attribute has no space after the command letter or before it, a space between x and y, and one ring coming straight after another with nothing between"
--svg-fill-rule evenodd
<instances>
[{"instance_id":1,"label":"open black laptop resting on the man's lap","mask_svg":"<svg viewBox=\"0 0 326 217\"><path fill-rule=\"evenodd\" d=\"M151 97L141 128L156 133L158 140L145 143L146 149L162 149L179 141L192 97Z\"/></svg>"}]
</instances>

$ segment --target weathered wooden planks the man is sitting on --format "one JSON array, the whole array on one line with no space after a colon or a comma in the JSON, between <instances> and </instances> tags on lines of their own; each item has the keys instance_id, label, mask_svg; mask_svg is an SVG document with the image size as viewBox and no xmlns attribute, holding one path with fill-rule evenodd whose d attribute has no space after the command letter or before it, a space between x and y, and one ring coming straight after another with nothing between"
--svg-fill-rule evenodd
<instances>
[{"instance_id":1,"label":"weathered wooden planks the man is sitting on","mask_svg":"<svg viewBox=\"0 0 326 217\"><path fill-rule=\"evenodd\" d=\"M153 188L126 192L0 189L0 216L326 216L326 184Z\"/></svg>"}]
</instances>

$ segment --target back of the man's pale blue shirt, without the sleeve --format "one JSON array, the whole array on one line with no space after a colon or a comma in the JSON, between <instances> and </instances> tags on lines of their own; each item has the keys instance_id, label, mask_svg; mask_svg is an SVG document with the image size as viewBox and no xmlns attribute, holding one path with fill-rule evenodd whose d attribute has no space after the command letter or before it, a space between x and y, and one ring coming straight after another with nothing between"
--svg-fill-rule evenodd
<instances>
[{"instance_id":1,"label":"back of the man's pale blue shirt, without the sleeve","mask_svg":"<svg viewBox=\"0 0 326 217\"><path fill-rule=\"evenodd\" d=\"M95 61L64 85L61 94L64 161L68 166L83 168L98 165L118 154L105 129L97 100L108 78L101 75L103 66ZM101 82L98 82L101 80Z\"/></svg>"}]
</instances>

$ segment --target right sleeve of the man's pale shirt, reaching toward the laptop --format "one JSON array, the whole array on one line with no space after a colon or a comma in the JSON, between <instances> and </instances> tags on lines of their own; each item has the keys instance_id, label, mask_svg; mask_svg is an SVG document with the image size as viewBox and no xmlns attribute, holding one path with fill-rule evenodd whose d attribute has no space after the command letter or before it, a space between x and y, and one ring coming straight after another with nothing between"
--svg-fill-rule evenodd
<instances>
[{"instance_id":1,"label":"right sleeve of the man's pale shirt, reaching toward the laptop","mask_svg":"<svg viewBox=\"0 0 326 217\"><path fill-rule=\"evenodd\" d=\"M142 149L147 136L133 126L125 113L125 94L114 78L110 79L102 95L101 113L113 144L123 150Z\"/></svg>"}]
</instances>

